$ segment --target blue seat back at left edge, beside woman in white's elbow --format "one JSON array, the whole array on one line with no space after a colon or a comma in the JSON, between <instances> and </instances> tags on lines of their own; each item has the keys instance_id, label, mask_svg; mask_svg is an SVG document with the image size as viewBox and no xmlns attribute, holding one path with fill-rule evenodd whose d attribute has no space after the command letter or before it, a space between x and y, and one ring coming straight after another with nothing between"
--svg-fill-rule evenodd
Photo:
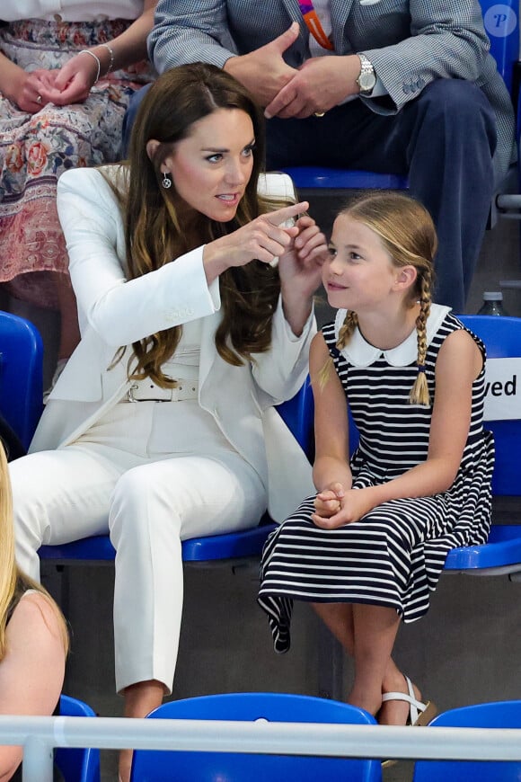
<instances>
[{"instance_id":1,"label":"blue seat back at left edge, beside woman in white's elbow","mask_svg":"<svg viewBox=\"0 0 521 782\"><path fill-rule=\"evenodd\" d=\"M43 347L25 318L0 311L0 413L27 449L43 409Z\"/></svg>"}]
</instances>

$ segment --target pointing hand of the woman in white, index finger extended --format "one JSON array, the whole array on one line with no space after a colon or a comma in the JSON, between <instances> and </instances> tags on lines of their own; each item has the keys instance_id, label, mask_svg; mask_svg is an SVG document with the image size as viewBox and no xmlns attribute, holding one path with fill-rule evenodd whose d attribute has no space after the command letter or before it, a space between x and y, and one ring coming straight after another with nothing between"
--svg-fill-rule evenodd
<instances>
[{"instance_id":1,"label":"pointing hand of the woman in white, index finger extended","mask_svg":"<svg viewBox=\"0 0 521 782\"><path fill-rule=\"evenodd\" d=\"M300 230L297 226L284 227L282 224L305 212L308 206L307 201L303 201L276 209L207 244L203 262L208 284L232 266L245 266L252 261L271 263L287 253Z\"/></svg>"}]
</instances>

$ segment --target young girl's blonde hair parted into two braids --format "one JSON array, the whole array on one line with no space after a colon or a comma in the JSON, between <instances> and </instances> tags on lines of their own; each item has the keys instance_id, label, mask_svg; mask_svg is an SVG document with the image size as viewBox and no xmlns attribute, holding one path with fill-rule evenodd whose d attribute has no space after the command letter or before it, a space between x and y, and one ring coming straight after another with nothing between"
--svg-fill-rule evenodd
<instances>
[{"instance_id":1,"label":"young girl's blonde hair parted into two braids","mask_svg":"<svg viewBox=\"0 0 521 782\"><path fill-rule=\"evenodd\" d=\"M340 215L349 215L349 218L374 231L391 255L394 266L414 266L417 271L417 278L407 299L410 307L419 301L419 315L416 319L418 374L409 401L411 404L428 406L430 399L425 377L427 321L434 281L433 259L437 251L436 228L432 218L419 201L395 191L365 193L351 201ZM349 311L340 327L337 342L339 350L349 342L357 325L357 313Z\"/></svg>"}]
</instances>

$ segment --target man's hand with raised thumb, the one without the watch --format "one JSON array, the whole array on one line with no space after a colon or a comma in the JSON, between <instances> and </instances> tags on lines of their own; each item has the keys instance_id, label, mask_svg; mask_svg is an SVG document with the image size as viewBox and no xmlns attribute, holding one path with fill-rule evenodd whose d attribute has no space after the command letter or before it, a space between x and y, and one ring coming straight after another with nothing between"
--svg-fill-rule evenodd
<instances>
[{"instance_id":1,"label":"man's hand with raised thumb, the one without the watch","mask_svg":"<svg viewBox=\"0 0 521 782\"><path fill-rule=\"evenodd\" d=\"M289 67L282 55L295 43L300 28L293 22L286 32L261 49L225 62L224 70L241 82L261 106L267 106L298 71Z\"/></svg>"}]
</instances>

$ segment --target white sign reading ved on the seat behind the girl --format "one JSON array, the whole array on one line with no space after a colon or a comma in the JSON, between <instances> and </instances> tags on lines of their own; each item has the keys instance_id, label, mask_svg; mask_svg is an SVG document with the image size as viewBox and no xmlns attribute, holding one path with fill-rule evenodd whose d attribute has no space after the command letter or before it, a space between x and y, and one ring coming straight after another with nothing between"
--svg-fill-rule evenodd
<instances>
[{"instance_id":1,"label":"white sign reading ved on the seat behind the girl","mask_svg":"<svg viewBox=\"0 0 521 782\"><path fill-rule=\"evenodd\" d=\"M487 359L484 418L521 419L521 359Z\"/></svg>"}]
</instances>

